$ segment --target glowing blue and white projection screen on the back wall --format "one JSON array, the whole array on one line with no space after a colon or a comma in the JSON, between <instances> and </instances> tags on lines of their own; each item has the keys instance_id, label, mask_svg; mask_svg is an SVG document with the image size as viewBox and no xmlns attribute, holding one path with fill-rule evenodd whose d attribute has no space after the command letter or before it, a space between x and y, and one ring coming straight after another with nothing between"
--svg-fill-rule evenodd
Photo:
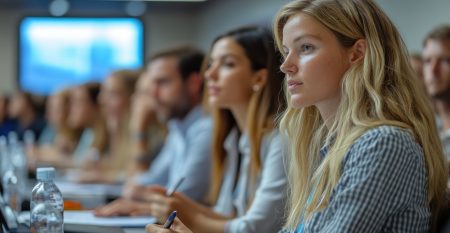
<instances>
[{"instance_id":1,"label":"glowing blue and white projection screen on the back wall","mask_svg":"<svg viewBox=\"0 0 450 233\"><path fill-rule=\"evenodd\" d=\"M135 18L26 17L19 38L20 87L35 94L143 65L144 28Z\"/></svg>"}]
</instances>

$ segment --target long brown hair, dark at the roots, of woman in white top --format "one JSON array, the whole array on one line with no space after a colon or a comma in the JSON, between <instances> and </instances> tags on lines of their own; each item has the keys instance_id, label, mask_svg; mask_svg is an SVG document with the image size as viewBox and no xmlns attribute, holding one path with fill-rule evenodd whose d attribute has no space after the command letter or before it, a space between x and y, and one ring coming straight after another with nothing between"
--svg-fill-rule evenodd
<instances>
[{"instance_id":1,"label":"long brown hair, dark at the roots, of woman in white top","mask_svg":"<svg viewBox=\"0 0 450 233\"><path fill-rule=\"evenodd\" d=\"M234 39L246 52L253 71L267 69L266 84L255 91L250 99L247 113L247 133L250 141L251 181L261 170L260 147L264 134L275 128L275 117L284 109L282 98L283 75L279 71L281 54L274 48L274 40L267 30L259 27L242 27L216 38L213 45L222 38ZM212 138L212 182L209 201L215 203L220 192L225 169L226 151L223 147L228 133L236 126L231 111L211 109L214 120Z\"/></svg>"}]
</instances>

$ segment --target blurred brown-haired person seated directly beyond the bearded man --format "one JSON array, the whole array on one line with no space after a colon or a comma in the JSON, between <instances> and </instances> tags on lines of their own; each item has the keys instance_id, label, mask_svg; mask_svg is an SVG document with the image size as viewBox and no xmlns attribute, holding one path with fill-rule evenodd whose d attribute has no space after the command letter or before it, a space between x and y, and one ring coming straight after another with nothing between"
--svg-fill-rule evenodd
<instances>
[{"instance_id":1,"label":"blurred brown-haired person seated directly beyond the bearded man","mask_svg":"<svg viewBox=\"0 0 450 233\"><path fill-rule=\"evenodd\" d=\"M97 166L85 169L81 182L116 183L125 179L131 159L129 131L132 94L140 72L118 70L111 73L101 85L100 108L107 130L107 148Z\"/></svg>"}]
</instances>

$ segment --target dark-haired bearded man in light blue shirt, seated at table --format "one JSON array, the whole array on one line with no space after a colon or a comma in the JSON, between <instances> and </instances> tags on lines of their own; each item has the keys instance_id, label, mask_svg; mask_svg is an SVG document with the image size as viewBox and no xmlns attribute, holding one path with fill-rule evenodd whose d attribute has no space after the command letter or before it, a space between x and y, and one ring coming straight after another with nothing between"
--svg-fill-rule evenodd
<instances>
[{"instance_id":1,"label":"dark-haired bearded man in light blue shirt, seated at table","mask_svg":"<svg viewBox=\"0 0 450 233\"><path fill-rule=\"evenodd\" d=\"M146 66L151 81L149 94L156 115L167 122L169 134L161 152L147 172L124 187L124 198L101 208L97 214L133 214L147 185L172 187L183 177L179 191L205 201L210 178L211 119L200 106L203 54L190 47L177 47L154 55ZM145 203L144 203L145 205ZM117 209L119 212L109 210Z\"/></svg>"}]
</instances>

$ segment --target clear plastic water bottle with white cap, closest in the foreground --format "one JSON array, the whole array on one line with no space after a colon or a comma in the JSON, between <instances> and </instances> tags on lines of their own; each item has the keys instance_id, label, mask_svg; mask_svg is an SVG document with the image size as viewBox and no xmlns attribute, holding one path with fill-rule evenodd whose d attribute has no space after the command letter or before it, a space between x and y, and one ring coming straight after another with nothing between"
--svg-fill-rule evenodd
<instances>
[{"instance_id":1,"label":"clear plastic water bottle with white cap, closest in the foreground","mask_svg":"<svg viewBox=\"0 0 450 233\"><path fill-rule=\"evenodd\" d=\"M53 183L55 169L38 168L36 177L38 183L31 191L31 232L61 233L64 231L64 202Z\"/></svg>"}]
</instances>

